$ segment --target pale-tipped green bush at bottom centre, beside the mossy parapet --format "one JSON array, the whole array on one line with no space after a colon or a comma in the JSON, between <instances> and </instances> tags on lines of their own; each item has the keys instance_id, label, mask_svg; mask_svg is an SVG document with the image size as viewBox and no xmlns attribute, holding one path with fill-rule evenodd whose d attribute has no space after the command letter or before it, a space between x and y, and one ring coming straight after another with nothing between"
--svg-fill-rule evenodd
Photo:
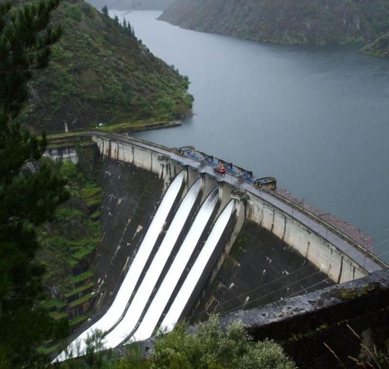
<instances>
[{"instance_id":1,"label":"pale-tipped green bush at bottom centre, beside the mossy parapet","mask_svg":"<svg viewBox=\"0 0 389 369\"><path fill-rule=\"evenodd\" d=\"M141 366L142 365L142 366ZM151 369L295 369L282 348L270 340L253 342L241 321L232 322L225 331L218 316L195 326L190 334L185 324L157 337L154 352L141 363L134 347L117 368Z\"/></svg>"}]
</instances>

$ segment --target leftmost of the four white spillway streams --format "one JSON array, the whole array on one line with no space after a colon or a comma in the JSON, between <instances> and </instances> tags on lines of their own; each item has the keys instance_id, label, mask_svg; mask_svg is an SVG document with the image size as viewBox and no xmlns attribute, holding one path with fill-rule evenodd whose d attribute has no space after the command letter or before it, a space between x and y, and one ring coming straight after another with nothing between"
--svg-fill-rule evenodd
<instances>
[{"instance_id":1,"label":"leftmost of the four white spillway streams","mask_svg":"<svg viewBox=\"0 0 389 369\"><path fill-rule=\"evenodd\" d=\"M144 265L146 264L147 259L153 250L159 233L162 230L163 224L165 223L170 209L172 208L173 203L177 198L177 194L181 188L183 178L184 173L181 171L167 189L150 224L150 227L144 236L141 246L136 253L133 262L131 263L130 268L128 269L122 285L120 286L115 300L112 302L112 305L101 319L99 319L96 323L94 323L91 327L79 335L73 342L71 342L69 349L72 349L70 350L72 351L72 357L78 355L78 352L75 351L83 351L85 349L85 339L88 337L88 335L91 335L93 331L97 329L101 330L102 332L108 331L123 315L125 307L127 306L132 292L134 291L135 285L138 282ZM67 355L65 352L61 352L54 359L54 362L65 360L67 358L66 356Z\"/></svg>"}]
</instances>

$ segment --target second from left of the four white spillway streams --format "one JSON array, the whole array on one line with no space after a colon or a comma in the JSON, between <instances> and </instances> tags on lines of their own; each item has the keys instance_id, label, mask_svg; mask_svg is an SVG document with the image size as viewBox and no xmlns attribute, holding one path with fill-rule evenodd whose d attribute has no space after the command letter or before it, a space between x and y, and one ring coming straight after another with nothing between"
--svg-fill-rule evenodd
<instances>
[{"instance_id":1,"label":"second from left of the four white spillway streams","mask_svg":"<svg viewBox=\"0 0 389 369\"><path fill-rule=\"evenodd\" d=\"M182 231L182 227L188 218L195 200L200 190L201 181L198 179L195 184L191 187L184 200L181 202L177 213L166 232L165 237L161 245L159 246L158 252L153 258L150 267L139 286L134 299L131 301L124 318L118 323L118 325L105 337L105 347L113 348L119 345L124 339L131 334L135 328L141 314L155 288L158 278L165 266L170 253L173 250L174 245L177 242L177 238Z\"/></svg>"}]
</instances>

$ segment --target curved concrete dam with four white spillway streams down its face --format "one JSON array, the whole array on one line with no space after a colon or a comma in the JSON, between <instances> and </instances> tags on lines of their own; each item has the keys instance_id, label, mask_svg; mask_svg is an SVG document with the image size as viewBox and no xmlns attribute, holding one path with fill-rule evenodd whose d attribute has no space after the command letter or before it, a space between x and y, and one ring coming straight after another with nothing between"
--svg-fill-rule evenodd
<instances>
[{"instance_id":1,"label":"curved concrete dam with four white spillway streams down its face","mask_svg":"<svg viewBox=\"0 0 389 369\"><path fill-rule=\"evenodd\" d=\"M102 206L95 314L71 336L70 348L78 342L82 350L97 329L106 332L106 348L114 348L172 329L180 319L265 305L387 267L278 195L272 177L257 179L190 146L88 137L102 157L105 188L117 192L108 191ZM71 144L51 152L77 161ZM226 173L214 170L219 164ZM133 181L140 178L136 192Z\"/></svg>"}]
</instances>

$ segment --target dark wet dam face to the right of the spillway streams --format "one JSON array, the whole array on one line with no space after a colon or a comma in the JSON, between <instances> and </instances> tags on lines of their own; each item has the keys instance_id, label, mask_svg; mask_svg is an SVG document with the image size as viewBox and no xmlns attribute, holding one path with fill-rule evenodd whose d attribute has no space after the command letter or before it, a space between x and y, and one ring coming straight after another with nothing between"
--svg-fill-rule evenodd
<instances>
[{"instance_id":1,"label":"dark wet dam face to the right of the spillway streams","mask_svg":"<svg viewBox=\"0 0 389 369\"><path fill-rule=\"evenodd\" d=\"M251 309L334 284L283 240L248 222L188 318L205 320L210 313Z\"/></svg>"}]
</instances>

